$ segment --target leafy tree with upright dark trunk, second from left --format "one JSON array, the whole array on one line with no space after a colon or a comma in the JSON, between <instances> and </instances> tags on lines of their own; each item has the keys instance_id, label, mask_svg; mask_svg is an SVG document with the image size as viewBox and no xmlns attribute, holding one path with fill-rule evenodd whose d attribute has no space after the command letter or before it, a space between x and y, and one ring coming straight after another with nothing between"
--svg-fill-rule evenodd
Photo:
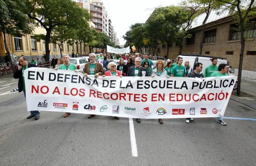
<instances>
[{"instance_id":1,"label":"leafy tree with upright dark trunk, second from left","mask_svg":"<svg viewBox=\"0 0 256 166\"><path fill-rule=\"evenodd\" d=\"M46 30L45 61L49 61L50 36L56 26L76 26L89 21L91 15L72 0L25 0L24 13Z\"/></svg>"}]
</instances>

